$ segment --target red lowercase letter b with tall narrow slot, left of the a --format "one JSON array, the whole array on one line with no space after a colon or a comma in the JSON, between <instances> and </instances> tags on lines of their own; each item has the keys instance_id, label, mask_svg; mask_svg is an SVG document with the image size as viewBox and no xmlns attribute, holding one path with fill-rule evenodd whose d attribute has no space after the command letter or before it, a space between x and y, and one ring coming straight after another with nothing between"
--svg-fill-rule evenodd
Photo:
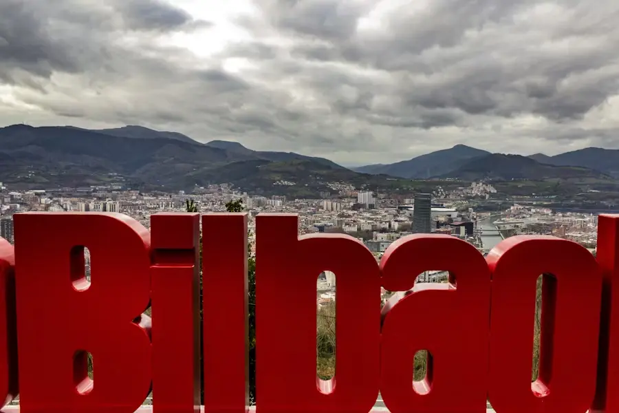
<instances>
[{"instance_id":1,"label":"red lowercase letter b with tall narrow slot, left of the a","mask_svg":"<svg viewBox=\"0 0 619 413\"><path fill-rule=\"evenodd\" d=\"M296 215L258 215L256 252L257 409L367 413L376 403L380 273L347 235L298 238ZM336 275L336 374L316 377L316 280ZM328 392L333 389L332 392Z\"/></svg>"}]
</instances>

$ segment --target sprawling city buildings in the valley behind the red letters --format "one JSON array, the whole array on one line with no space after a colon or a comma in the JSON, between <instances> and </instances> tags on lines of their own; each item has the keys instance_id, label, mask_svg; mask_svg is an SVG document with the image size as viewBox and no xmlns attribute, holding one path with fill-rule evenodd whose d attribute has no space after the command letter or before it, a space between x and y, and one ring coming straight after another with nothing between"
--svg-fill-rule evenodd
<instances>
[{"instance_id":1,"label":"sprawling city buildings in the valley behind the red letters","mask_svg":"<svg viewBox=\"0 0 619 413\"><path fill-rule=\"evenodd\" d=\"M282 182L281 184L285 184ZM14 242L12 215L28 211L116 212L149 227L150 215L186 211L193 201L201 213L226 211L226 203L241 200L250 215L250 242L254 242L257 213L296 213L299 233L347 233L362 240L380 260L389 245L413 233L441 233L475 245L481 253L505 237L521 234L554 235L573 240L595 253L598 217L594 213L560 213L535 204L512 204L501 211L476 211L471 199L487 200L497 191L492 185L473 182L468 187L419 193L409 199L361 191L349 184L329 184L332 193L323 199L294 200L285 196L254 196L236 191L230 184L197 188L194 193L141 193L117 187L13 191L0 183L0 236ZM87 266L89 257L87 256ZM89 268L87 268L89 270ZM89 272L89 271L88 271ZM446 279L444 271L428 271L421 282ZM318 277L318 306L332 302L335 278L325 272Z\"/></svg>"}]
</instances>

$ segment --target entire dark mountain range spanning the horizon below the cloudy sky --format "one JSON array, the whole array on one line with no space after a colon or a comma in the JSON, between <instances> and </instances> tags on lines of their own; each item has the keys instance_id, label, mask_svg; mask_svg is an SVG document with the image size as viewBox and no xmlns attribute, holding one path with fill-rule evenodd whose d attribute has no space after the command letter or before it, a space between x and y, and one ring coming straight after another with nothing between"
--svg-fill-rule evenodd
<instances>
[{"instance_id":1,"label":"entire dark mountain range spanning the horizon below the cloudy sky","mask_svg":"<svg viewBox=\"0 0 619 413\"><path fill-rule=\"evenodd\" d=\"M193 190L230 182L255 193L315 196L329 182L358 188L411 189L411 180L611 180L619 150L587 148L557 156L503 155L456 145L389 165L347 169L331 160L254 151L239 142L197 142L140 126L0 128L0 182L51 189L122 183L126 187Z\"/></svg>"}]
</instances>

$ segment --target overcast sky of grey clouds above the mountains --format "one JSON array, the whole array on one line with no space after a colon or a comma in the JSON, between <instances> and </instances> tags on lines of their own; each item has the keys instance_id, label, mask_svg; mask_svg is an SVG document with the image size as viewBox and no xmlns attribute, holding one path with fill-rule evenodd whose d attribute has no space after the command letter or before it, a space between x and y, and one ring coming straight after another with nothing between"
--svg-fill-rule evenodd
<instances>
[{"instance_id":1,"label":"overcast sky of grey clouds above the mountains","mask_svg":"<svg viewBox=\"0 0 619 413\"><path fill-rule=\"evenodd\" d=\"M346 165L619 149L618 0L0 0L0 125Z\"/></svg>"}]
</instances>

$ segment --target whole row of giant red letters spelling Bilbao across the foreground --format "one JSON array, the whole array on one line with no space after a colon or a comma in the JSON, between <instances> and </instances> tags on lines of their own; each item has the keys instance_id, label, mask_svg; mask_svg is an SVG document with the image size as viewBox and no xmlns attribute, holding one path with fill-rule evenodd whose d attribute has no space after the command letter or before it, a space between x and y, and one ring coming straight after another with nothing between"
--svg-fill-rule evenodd
<instances>
[{"instance_id":1,"label":"whole row of giant red letters spelling Bilbao across the foreground","mask_svg":"<svg viewBox=\"0 0 619 413\"><path fill-rule=\"evenodd\" d=\"M0 397L17 392L17 339L23 412L147 413L153 407L140 403L151 381L155 410L197 412L202 338L201 409L247 410L246 215L203 218L202 337L196 214L153 215L152 245L149 231L124 215L14 220L14 262L12 247L0 242ZM417 235L395 242L379 267L354 238L298 237L295 215L259 215L256 410L366 413L380 389L393 412L484 412L486 396L499 413L619 412L618 229L619 216L600 217L599 263L552 237L512 237L486 262L453 237ZM81 246L92 256L90 286ZM455 284L413 284L437 269ZM336 377L326 382L316 378L316 277L325 270L338 285ZM556 282L544 283L541 373L531 384L542 273ZM413 288L389 302L382 319L381 286ZM140 317L149 303L151 335L150 319ZM433 354L429 386L412 383L417 350ZM94 356L96 383L84 352Z\"/></svg>"}]
</instances>

